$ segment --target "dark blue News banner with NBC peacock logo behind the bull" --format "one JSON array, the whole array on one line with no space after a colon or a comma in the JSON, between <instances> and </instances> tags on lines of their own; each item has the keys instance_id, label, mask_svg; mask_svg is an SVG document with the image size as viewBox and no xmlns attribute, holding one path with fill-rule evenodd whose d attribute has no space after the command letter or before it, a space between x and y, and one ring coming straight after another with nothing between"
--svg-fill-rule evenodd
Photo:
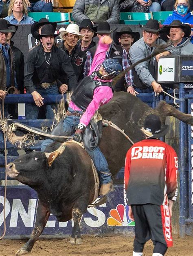
<instances>
[{"instance_id":1,"label":"dark blue News banner with NBC peacock logo behind the bull","mask_svg":"<svg viewBox=\"0 0 193 256\"><path fill-rule=\"evenodd\" d=\"M4 187L0 187L0 233L3 232ZM35 225L38 198L29 186L7 187L5 206L6 237L29 237ZM71 235L73 220L58 222L50 218L43 231L48 237ZM128 218L128 206L123 203L123 185L114 185L107 202L99 207L90 207L81 220L81 234L105 234L134 232L134 222Z\"/></svg>"}]
</instances>

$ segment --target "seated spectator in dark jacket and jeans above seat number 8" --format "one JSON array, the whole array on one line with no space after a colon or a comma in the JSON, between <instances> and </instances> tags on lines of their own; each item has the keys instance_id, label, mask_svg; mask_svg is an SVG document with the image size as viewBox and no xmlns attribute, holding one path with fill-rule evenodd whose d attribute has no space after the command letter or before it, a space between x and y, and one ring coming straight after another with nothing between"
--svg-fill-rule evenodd
<instances>
[{"instance_id":1,"label":"seated spectator in dark jacket and jeans above seat number 8","mask_svg":"<svg viewBox=\"0 0 193 256\"><path fill-rule=\"evenodd\" d=\"M119 4L121 12L161 11L159 0L125 0Z\"/></svg>"}]
</instances>

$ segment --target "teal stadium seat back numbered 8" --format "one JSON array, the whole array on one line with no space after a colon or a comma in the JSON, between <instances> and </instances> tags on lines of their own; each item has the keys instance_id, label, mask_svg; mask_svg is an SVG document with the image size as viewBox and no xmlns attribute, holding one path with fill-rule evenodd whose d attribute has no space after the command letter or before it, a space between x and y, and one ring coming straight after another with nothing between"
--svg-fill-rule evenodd
<instances>
[{"instance_id":1,"label":"teal stadium seat back numbered 8","mask_svg":"<svg viewBox=\"0 0 193 256\"><path fill-rule=\"evenodd\" d=\"M121 12L120 20L149 20L152 18L152 13L150 12Z\"/></svg>"}]
</instances>

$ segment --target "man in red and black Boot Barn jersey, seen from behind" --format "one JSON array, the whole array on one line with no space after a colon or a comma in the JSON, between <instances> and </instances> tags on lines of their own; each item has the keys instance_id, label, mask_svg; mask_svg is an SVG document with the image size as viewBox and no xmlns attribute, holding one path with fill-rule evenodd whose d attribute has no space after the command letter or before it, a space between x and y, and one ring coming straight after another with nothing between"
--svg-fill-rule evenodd
<instances>
[{"instance_id":1,"label":"man in red and black Boot Barn jersey, seen from behind","mask_svg":"<svg viewBox=\"0 0 193 256\"><path fill-rule=\"evenodd\" d=\"M162 256L173 246L171 216L178 195L178 157L158 138L169 130L157 115L145 118L145 139L129 148L125 161L125 204L135 221L133 255L143 255L145 243L154 243L153 256Z\"/></svg>"}]
</instances>

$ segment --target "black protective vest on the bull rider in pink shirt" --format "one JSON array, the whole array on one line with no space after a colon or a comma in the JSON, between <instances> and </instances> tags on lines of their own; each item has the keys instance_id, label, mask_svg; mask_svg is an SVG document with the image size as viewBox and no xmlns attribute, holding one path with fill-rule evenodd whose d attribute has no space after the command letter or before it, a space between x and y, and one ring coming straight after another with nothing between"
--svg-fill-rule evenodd
<instances>
[{"instance_id":1,"label":"black protective vest on the bull rider in pink shirt","mask_svg":"<svg viewBox=\"0 0 193 256\"><path fill-rule=\"evenodd\" d=\"M72 93L72 101L81 110L85 111L93 99L94 89L99 86L109 86L112 88L110 82L104 83L101 81L93 80L93 75L86 76L81 82L79 82L77 88ZM113 91L113 88L112 88Z\"/></svg>"}]
</instances>

